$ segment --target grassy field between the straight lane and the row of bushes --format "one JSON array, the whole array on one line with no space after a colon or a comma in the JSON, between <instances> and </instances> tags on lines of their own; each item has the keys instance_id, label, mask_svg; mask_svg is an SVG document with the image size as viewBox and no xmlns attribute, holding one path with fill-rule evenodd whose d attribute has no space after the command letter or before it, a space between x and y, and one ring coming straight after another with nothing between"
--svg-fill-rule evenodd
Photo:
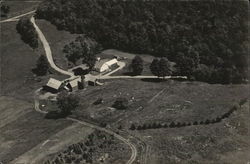
<instances>
[{"instance_id":1,"label":"grassy field between the straight lane and the row of bushes","mask_svg":"<svg viewBox=\"0 0 250 164\"><path fill-rule=\"evenodd\" d=\"M76 115L88 115L108 123L119 122L124 126L130 122L203 121L216 118L241 99L247 98L249 94L245 91L248 87L200 82L107 80L104 86L89 87L79 92L82 110L78 110ZM128 110L111 108L117 97L129 100ZM103 98L104 103L93 105L98 98Z\"/></svg>"}]
</instances>

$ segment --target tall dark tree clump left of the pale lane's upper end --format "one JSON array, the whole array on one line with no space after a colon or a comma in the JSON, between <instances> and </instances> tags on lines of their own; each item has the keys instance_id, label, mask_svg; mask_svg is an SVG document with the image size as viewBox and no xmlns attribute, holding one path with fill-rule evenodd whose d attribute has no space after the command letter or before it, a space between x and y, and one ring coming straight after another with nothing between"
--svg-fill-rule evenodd
<instances>
[{"instance_id":1,"label":"tall dark tree clump left of the pale lane's upper end","mask_svg":"<svg viewBox=\"0 0 250 164\"><path fill-rule=\"evenodd\" d=\"M21 39L31 48L38 47L38 35L28 18L21 18L16 25L16 30L21 35Z\"/></svg>"}]
</instances>

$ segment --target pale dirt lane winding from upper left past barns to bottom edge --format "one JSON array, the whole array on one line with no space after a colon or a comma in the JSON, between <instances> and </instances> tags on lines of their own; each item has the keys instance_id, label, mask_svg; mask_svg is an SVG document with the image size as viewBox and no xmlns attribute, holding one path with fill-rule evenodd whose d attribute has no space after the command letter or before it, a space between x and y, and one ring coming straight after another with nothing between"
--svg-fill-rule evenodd
<instances>
[{"instance_id":1,"label":"pale dirt lane winding from upper left past barns to bottom edge","mask_svg":"<svg viewBox=\"0 0 250 164\"><path fill-rule=\"evenodd\" d=\"M74 77L74 74L71 73L71 72L67 72L65 70L62 70L61 68L57 67L53 61L53 58L52 58L52 53L51 53L51 49L50 49L50 46L49 46L49 43L48 41L46 40L45 36L43 35L42 31L39 29L39 27L36 25L35 23L35 19L34 17L31 17L30 21L32 22L33 26L35 27L37 33L38 33L38 36L43 44L43 47L44 47L44 50L45 50L45 53L46 53L46 57L49 61L49 64L50 66L55 69L56 71L62 73L62 74L65 74L65 75L69 75L71 77ZM43 113L43 114L46 114L45 111L42 111L40 110L39 108L39 100L37 99L37 94L38 92L40 91L40 89L36 90L35 92L35 110L37 112L40 112L40 113ZM111 134L111 135L114 135L114 137L116 137L117 139L119 139L120 141L124 142L125 144L127 144L131 151L132 151L132 154L131 154L131 157L130 159L127 161L127 164L132 164L136 157L137 157L137 149L135 147L135 145L133 145L129 140L125 139L124 137L122 137L121 135L118 135L116 134L115 132L111 131L111 130L108 130L106 128L102 128L102 127L99 127L97 125L94 125L94 124L90 124L90 123L87 123L87 122L84 122L84 121L81 121L81 120L77 120L77 119L74 119L74 118L70 118L70 117L67 117L68 120L71 120L71 121L74 121L74 122L77 122L77 123L80 123L80 124L83 124L85 126L88 126L88 127L91 127L93 129L96 129L96 130L100 130L100 131L103 131L103 132L106 132L108 134Z\"/></svg>"}]
</instances>

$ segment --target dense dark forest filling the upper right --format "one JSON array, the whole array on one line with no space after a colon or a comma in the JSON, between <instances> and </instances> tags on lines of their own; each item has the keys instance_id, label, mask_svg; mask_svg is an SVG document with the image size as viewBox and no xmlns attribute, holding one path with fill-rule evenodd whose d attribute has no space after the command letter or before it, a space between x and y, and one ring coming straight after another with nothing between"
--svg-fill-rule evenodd
<instances>
[{"instance_id":1,"label":"dense dark forest filling the upper right","mask_svg":"<svg viewBox=\"0 0 250 164\"><path fill-rule=\"evenodd\" d=\"M246 1L48 0L36 14L104 48L167 57L173 74L210 83L248 76Z\"/></svg>"}]
</instances>

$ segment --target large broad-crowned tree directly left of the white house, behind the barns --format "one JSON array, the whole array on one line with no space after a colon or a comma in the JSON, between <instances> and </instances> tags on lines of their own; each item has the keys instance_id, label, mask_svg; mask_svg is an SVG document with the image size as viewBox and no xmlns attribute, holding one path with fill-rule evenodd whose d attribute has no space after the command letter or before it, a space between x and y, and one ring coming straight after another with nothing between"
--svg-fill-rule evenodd
<instances>
[{"instance_id":1,"label":"large broad-crowned tree directly left of the white house, behind the barns","mask_svg":"<svg viewBox=\"0 0 250 164\"><path fill-rule=\"evenodd\" d=\"M79 36L75 41L64 46L63 52L67 59L76 64L81 59L90 69L95 66L96 54L101 51L101 46L94 40L86 36Z\"/></svg>"}]
</instances>

